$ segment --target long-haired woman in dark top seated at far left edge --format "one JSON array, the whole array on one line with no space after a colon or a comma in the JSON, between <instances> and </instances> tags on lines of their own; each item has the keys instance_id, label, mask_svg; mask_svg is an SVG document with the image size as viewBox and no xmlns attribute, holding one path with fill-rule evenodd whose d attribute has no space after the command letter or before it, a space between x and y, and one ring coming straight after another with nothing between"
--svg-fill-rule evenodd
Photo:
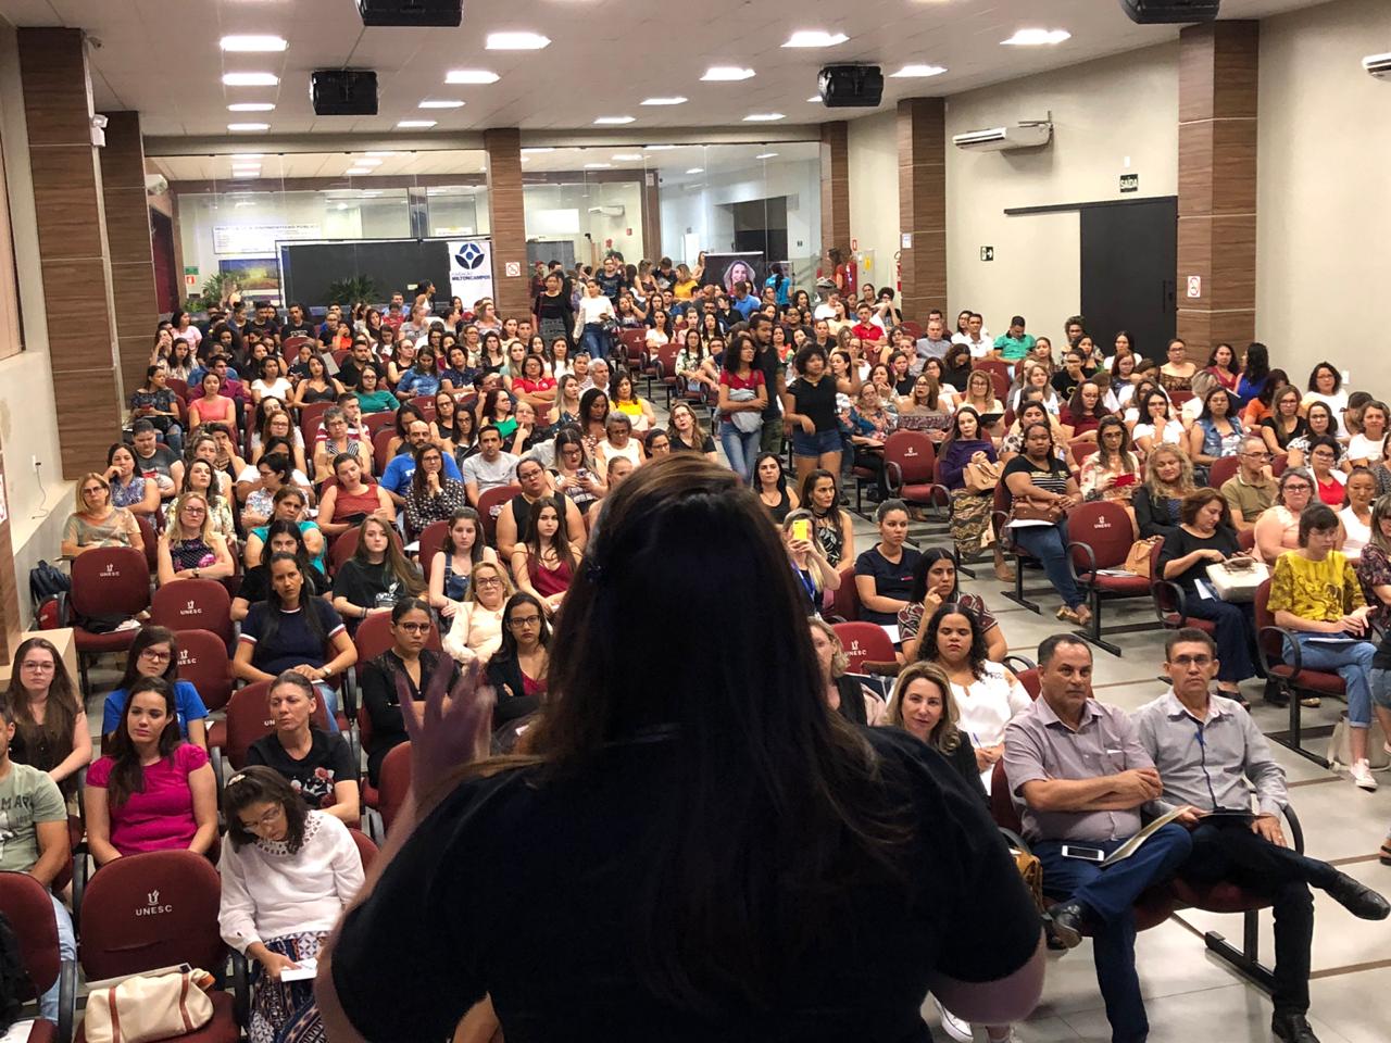
<instances>
[{"instance_id":1,"label":"long-haired woman in dark top seated at far left edge","mask_svg":"<svg viewBox=\"0 0 1391 1043\"><path fill-rule=\"evenodd\" d=\"M92 763L92 733L82 697L51 641L31 637L14 649L10 686L0 693L8 711L10 761L45 772L75 807L78 773ZM11 812L14 805L6 805ZM0 846L3 850L3 846Z\"/></svg>"}]
</instances>

